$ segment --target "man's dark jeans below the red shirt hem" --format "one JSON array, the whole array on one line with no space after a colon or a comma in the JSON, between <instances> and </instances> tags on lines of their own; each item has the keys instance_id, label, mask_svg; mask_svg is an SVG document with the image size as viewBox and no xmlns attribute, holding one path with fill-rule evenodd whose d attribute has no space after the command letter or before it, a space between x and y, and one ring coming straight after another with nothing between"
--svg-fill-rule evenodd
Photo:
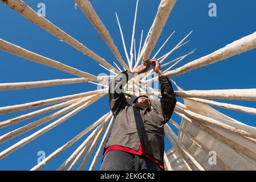
<instances>
[{"instance_id":1,"label":"man's dark jeans below the red shirt hem","mask_svg":"<svg viewBox=\"0 0 256 182\"><path fill-rule=\"evenodd\" d=\"M100 171L162 171L162 169L145 156L111 150L105 155Z\"/></svg>"}]
</instances>

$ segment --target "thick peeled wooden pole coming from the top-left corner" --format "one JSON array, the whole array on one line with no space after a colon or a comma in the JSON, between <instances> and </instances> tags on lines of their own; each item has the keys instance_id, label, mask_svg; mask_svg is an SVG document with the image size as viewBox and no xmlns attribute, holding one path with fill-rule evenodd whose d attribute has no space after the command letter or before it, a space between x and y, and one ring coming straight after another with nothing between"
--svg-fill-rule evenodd
<instances>
[{"instance_id":1,"label":"thick peeled wooden pole coming from the top-left corner","mask_svg":"<svg viewBox=\"0 0 256 182\"><path fill-rule=\"evenodd\" d=\"M78 42L78 40L72 38L72 36L68 35L66 32L61 30L55 24L51 23L49 20L47 20L43 16L36 13L25 2L21 0L8 0L8 1L0 0L0 1L4 3L6 6L9 6L11 9L17 11L17 13L21 14L26 19L30 20L30 22L36 24L37 26L49 32L50 34L56 36L56 38L78 49L78 51L83 52L84 55L91 57L92 59L94 59L95 61L97 61L98 63L104 65L109 69L115 69L114 67L112 67L111 64L109 64L103 58L96 55L96 53L92 52L89 48L84 46L82 43Z\"/></svg>"}]
</instances>

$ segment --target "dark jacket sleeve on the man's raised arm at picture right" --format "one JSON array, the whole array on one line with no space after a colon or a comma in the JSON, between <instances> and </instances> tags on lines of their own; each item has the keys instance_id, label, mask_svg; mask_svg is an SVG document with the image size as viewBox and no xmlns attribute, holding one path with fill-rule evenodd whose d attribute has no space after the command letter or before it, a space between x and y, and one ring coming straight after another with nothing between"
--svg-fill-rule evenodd
<instances>
[{"instance_id":1,"label":"dark jacket sleeve on the man's raised arm at picture right","mask_svg":"<svg viewBox=\"0 0 256 182\"><path fill-rule=\"evenodd\" d=\"M164 123L170 120L174 107L176 105L176 97L172 88L172 83L169 81L168 77L160 76L159 82L161 84L161 99L160 99L160 108L161 113L164 117Z\"/></svg>"}]
</instances>

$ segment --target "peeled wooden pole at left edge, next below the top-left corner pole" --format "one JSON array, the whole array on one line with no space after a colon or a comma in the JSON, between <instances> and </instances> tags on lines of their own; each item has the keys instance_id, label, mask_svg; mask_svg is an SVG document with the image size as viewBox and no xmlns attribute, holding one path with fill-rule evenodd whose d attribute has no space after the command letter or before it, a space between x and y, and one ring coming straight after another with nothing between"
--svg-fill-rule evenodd
<instances>
[{"instance_id":1,"label":"peeled wooden pole at left edge, next below the top-left corner pole","mask_svg":"<svg viewBox=\"0 0 256 182\"><path fill-rule=\"evenodd\" d=\"M84 77L84 78L88 78L89 80L93 81L93 80L97 80L97 77L94 75L91 75L90 73L86 73L83 71L80 71L79 69L76 68L72 68L68 65L62 64L58 61L49 59L47 57L38 55L37 53L28 51L22 47L16 46L10 42L6 42L3 39L0 39L0 49L9 53L12 53L13 55L19 56L19 57L23 57L27 60L31 60L34 61L36 63L39 64L43 64L46 65L48 67L52 67L55 69L59 69L61 71L70 73L72 75L76 75L76 76L80 76L80 77Z\"/></svg>"}]
</instances>

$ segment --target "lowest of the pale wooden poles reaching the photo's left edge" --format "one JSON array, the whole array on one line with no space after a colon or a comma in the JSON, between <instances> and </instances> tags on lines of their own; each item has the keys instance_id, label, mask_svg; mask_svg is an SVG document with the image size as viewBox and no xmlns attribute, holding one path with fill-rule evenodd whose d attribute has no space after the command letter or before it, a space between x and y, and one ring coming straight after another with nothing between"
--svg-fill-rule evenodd
<instances>
[{"instance_id":1,"label":"lowest of the pale wooden poles reaching the photo's left edge","mask_svg":"<svg viewBox=\"0 0 256 182\"><path fill-rule=\"evenodd\" d=\"M101 94L100 97L102 97L104 94ZM87 98L86 98L87 99ZM81 100L79 102L83 102L84 100ZM78 103L79 103L78 102ZM92 104L92 102L87 102L86 104L83 104L82 106L77 107L76 109L74 109L73 111L71 111L70 113L64 115L63 117L57 119L55 122L52 122L50 125L43 127L42 129L36 131L34 134L30 135L29 137L23 138L22 140L20 140L19 142L13 144L13 146L7 148L6 150L0 152L0 159L5 158L7 155L11 154L11 152L14 152L15 150L17 150L18 148L21 148L22 146L24 146L25 144L31 142L32 140L34 140L35 138L39 137L40 135L46 133L47 131L51 130L52 128L54 128L55 126L59 125L60 123L66 121L66 119L72 117L72 115L78 113L79 111L83 110L84 108L86 108L88 106L88 104Z\"/></svg>"}]
</instances>

